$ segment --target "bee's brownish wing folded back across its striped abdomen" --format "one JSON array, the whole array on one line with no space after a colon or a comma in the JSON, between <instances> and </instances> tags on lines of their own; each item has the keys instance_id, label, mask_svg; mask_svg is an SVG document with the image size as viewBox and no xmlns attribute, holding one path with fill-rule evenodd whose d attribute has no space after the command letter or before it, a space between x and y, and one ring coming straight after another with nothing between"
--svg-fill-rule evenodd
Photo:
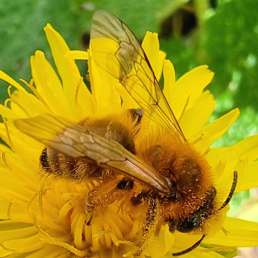
<instances>
[{"instance_id":1,"label":"bee's brownish wing folded back across its striped abdomen","mask_svg":"<svg viewBox=\"0 0 258 258\"><path fill-rule=\"evenodd\" d=\"M165 195L170 194L171 184L165 177L119 143L94 134L87 128L50 115L19 119L14 124L23 133L63 154L86 158L100 167L133 177Z\"/></svg>"}]
</instances>

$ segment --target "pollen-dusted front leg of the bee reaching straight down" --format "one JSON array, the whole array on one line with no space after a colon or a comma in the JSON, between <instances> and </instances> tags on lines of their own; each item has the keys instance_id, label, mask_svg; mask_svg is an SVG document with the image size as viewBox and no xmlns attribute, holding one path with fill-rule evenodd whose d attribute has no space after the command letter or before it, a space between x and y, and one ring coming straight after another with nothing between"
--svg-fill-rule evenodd
<instances>
[{"instance_id":1,"label":"pollen-dusted front leg of the bee reaching straight down","mask_svg":"<svg viewBox=\"0 0 258 258\"><path fill-rule=\"evenodd\" d=\"M143 221L143 232L141 236L140 242L137 244L138 250L134 253L135 256L140 256L143 251L143 245L145 244L146 240L149 238L152 230L158 224L158 217L160 215L160 205L159 201L155 197L149 198L148 201L149 208L145 215Z\"/></svg>"}]
</instances>

